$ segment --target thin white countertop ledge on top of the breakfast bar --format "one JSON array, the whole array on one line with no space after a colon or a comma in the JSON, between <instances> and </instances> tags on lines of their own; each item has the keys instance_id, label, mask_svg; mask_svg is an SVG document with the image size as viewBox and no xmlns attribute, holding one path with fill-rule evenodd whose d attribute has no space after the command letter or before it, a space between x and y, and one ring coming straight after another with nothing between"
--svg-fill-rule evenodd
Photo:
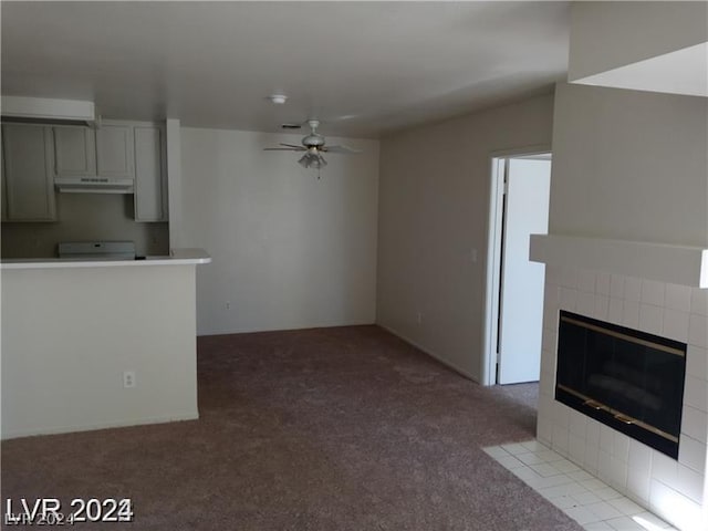
<instances>
[{"instance_id":1,"label":"thin white countertop ledge on top of the breakfast bar","mask_svg":"<svg viewBox=\"0 0 708 531\"><path fill-rule=\"evenodd\" d=\"M9 269L70 269L70 268L135 268L147 266L197 266L211 262L204 249L173 249L169 257L146 257L145 260L74 260L39 258L3 260L2 270Z\"/></svg>"}]
</instances>

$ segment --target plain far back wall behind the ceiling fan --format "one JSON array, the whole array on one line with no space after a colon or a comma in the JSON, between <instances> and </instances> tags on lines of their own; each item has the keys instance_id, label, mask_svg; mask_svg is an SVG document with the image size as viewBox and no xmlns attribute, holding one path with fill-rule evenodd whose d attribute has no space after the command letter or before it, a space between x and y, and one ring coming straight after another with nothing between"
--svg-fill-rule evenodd
<instances>
[{"instance_id":1,"label":"plain far back wall behind the ceiling fan","mask_svg":"<svg viewBox=\"0 0 708 531\"><path fill-rule=\"evenodd\" d=\"M300 153L263 152L302 134L181 128L183 247L197 268L201 335L371 324L376 303L378 142L326 156L321 177Z\"/></svg>"}]
</instances>

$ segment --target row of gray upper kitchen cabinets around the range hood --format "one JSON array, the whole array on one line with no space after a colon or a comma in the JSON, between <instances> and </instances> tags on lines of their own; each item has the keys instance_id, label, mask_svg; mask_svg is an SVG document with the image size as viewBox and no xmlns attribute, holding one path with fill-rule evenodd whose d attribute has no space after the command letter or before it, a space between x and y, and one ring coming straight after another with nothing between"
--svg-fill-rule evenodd
<instances>
[{"instance_id":1,"label":"row of gray upper kitchen cabinets around the range hood","mask_svg":"<svg viewBox=\"0 0 708 531\"><path fill-rule=\"evenodd\" d=\"M104 121L96 129L7 124L2 132L3 220L53 221L54 179L104 177L134 183L135 221L167 221L167 157L162 124Z\"/></svg>"}]
</instances>

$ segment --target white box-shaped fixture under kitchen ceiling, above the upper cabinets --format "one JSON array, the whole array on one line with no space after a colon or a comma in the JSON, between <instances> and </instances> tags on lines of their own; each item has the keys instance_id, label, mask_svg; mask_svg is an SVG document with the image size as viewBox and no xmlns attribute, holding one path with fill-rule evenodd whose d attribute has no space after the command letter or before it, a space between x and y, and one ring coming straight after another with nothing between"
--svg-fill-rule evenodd
<instances>
[{"instance_id":1,"label":"white box-shaped fixture under kitchen ceiling, above the upper cabinets","mask_svg":"<svg viewBox=\"0 0 708 531\"><path fill-rule=\"evenodd\" d=\"M94 126L93 102L50 97L2 96L2 118L19 122L69 123Z\"/></svg>"}]
</instances>

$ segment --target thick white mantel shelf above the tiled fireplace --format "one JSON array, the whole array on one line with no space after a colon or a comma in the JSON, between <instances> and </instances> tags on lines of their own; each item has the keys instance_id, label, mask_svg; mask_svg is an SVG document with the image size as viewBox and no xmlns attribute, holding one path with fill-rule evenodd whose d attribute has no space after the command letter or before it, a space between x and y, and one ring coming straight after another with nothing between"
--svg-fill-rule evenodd
<instances>
[{"instance_id":1,"label":"thick white mantel shelf above the tiled fireplace","mask_svg":"<svg viewBox=\"0 0 708 531\"><path fill-rule=\"evenodd\" d=\"M566 268L708 288L708 249L645 241L531 235L529 258Z\"/></svg>"}]
</instances>

